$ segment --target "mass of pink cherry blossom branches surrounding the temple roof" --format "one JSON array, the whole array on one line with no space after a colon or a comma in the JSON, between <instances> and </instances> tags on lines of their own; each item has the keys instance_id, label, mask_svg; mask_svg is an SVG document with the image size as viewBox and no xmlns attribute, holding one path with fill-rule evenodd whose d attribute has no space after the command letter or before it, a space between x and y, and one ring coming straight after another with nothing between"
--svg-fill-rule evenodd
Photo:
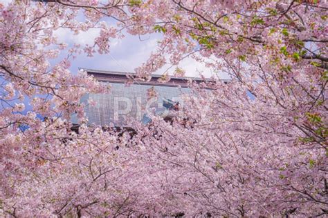
<instances>
[{"instance_id":1,"label":"mass of pink cherry blossom branches surrounding the temple roof","mask_svg":"<svg viewBox=\"0 0 328 218\"><path fill-rule=\"evenodd\" d=\"M309 0L0 4L1 215L327 215L327 7ZM67 45L55 37L61 28L100 34L93 45ZM183 76L177 65L192 57L230 82L190 83L194 95L172 123L152 117L147 126L134 123L133 134L87 126L80 98L110 88L72 74L71 61L107 54L109 41L125 34L154 32L163 39L134 79L172 67ZM165 72L161 81L168 80Z\"/></svg>"}]
</instances>

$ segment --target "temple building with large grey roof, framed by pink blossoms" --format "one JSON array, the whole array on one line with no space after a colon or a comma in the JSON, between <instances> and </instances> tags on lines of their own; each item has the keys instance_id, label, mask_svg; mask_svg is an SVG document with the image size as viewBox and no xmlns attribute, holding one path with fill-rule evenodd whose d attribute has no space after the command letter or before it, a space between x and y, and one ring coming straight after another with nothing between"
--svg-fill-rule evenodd
<instances>
[{"instance_id":1,"label":"temple building with large grey roof, framed by pink blossoms","mask_svg":"<svg viewBox=\"0 0 328 218\"><path fill-rule=\"evenodd\" d=\"M188 81L203 81L194 77L171 77L161 82L161 75L152 75L150 81L134 80L129 84L133 73L82 69L98 81L109 83L108 94L88 94L82 97L86 107L84 112L89 124L100 126L126 127L129 120L143 123L152 121L152 115L170 119L172 110L183 106L181 96L191 92ZM92 99L93 105L88 103ZM73 123L77 123L73 117Z\"/></svg>"}]
</instances>

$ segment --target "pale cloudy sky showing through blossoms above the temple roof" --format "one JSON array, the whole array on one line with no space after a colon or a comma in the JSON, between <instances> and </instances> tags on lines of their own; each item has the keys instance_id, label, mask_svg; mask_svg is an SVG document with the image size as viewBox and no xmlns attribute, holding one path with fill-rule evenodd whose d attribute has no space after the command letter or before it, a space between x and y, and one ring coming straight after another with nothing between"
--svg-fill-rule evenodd
<instances>
[{"instance_id":1,"label":"pale cloudy sky showing through blossoms above the temple roof","mask_svg":"<svg viewBox=\"0 0 328 218\"><path fill-rule=\"evenodd\" d=\"M5 6L12 0L0 0ZM81 17L82 18L82 17ZM70 45L79 43L82 46L85 44L93 45L93 39L97 36L98 30L92 29L88 32L82 32L78 35L73 35L73 32L67 29L60 29L55 32L59 41L64 41ZM141 40L140 40L141 39ZM147 61L152 50L156 49L156 43L161 39L161 34L151 34L148 36L132 36L126 34L124 39L111 39L109 54L95 54L94 57L86 57L81 54L72 61L71 72L78 72L78 68L87 68L93 70L110 70L120 72L134 72L134 69L140 66L144 61ZM56 61L66 57L64 53ZM168 66L158 70L156 74L163 74ZM187 58L179 64L179 67L185 70L185 76L199 77L200 73L205 77L215 75L210 68L206 68L202 63L198 63L191 58ZM174 71L175 67L169 70ZM219 75L222 79L227 79L226 75Z\"/></svg>"}]
</instances>

